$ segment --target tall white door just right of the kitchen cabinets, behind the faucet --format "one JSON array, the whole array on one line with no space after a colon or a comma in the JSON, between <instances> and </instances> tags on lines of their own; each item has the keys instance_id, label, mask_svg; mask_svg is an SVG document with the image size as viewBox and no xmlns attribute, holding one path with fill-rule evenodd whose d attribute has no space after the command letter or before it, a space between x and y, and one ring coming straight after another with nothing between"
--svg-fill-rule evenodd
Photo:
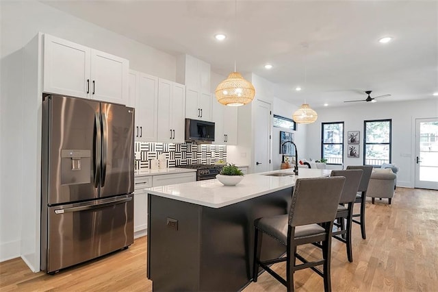
<instances>
[{"instance_id":1,"label":"tall white door just right of the kitchen cabinets, behind the faucet","mask_svg":"<svg viewBox=\"0 0 438 292\"><path fill-rule=\"evenodd\" d=\"M254 172L270 171L271 162L271 104L255 101Z\"/></svg>"}]
</instances>

